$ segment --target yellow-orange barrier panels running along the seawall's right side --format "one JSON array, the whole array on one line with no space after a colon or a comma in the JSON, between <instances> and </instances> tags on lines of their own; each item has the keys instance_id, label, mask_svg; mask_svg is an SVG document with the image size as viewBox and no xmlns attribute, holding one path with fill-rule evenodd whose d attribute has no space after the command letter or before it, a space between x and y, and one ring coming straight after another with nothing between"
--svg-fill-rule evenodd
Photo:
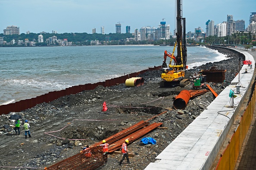
<instances>
[{"instance_id":1,"label":"yellow-orange barrier panels running along the seawall's right side","mask_svg":"<svg viewBox=\"0 0 256 170\"><path fill-rule=\"evenodd\" d=\"M253 119L254 106L256 101L255 89L253 91L253 96L249 105L247 106L244 114L240 119L240 124L237 129L234 131L233 136L231 137L230 142L228 143L227 148L221 155L217 167L215 170L234 170L234 167L237 162L244 138L249 130L250 123Z\"/></svg>"}]
</instances>

